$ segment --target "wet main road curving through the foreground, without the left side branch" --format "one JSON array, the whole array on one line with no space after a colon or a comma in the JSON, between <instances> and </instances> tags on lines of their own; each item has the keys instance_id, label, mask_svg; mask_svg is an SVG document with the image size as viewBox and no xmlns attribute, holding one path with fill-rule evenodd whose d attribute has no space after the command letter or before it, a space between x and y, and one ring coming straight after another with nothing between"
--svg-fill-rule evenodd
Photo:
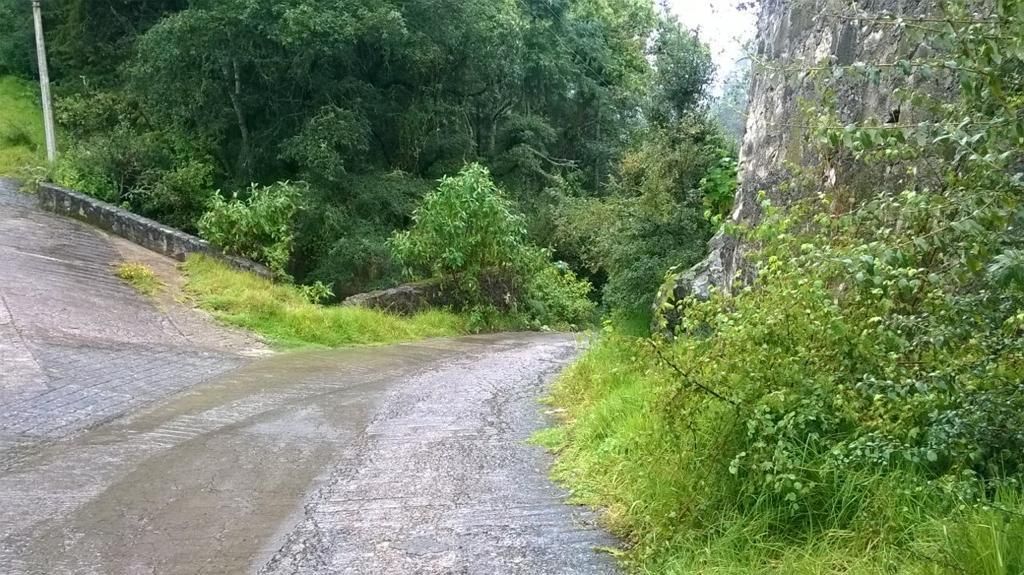
<instances>
[{"instance_id":1,"label":"wet main road curving through the foreground, without the left side branch","mask_svg":"<svg viewBox=\"0 0 1024 575\"><path fill-rule=\"evenodd\" d=\"M502 335L282 354L0 472L16 573L613 573L525 443L574 354Z\"/></svg>"}]
</instances>

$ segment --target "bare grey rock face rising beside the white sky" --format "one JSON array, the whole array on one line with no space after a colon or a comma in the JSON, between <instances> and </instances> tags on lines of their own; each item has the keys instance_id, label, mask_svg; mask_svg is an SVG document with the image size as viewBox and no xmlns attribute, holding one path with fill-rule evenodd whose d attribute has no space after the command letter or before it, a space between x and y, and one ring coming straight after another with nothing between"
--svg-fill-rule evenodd
<instances>
[{"instance_id":1,"label":"bare grey rock face rising beside the white sky","mask_svg":"<svg viewBox=\"0 0 1024 575\"><path fill-rule=\"evenodd\" d=\"M920 54L922 46L889 24L857 18L857 13L894 15L931 11L930 0L856 0L851 7L842 0L764 0L758 21L756 56L752 75L746 130L740 150L741 185L736 190L731 216L736 223L756 223L761 217L758 201L764 191L774 206L799 198L782 183L792 177L792 165L814 159L805 145L808 137L802 106L820 102L818 82L807 69L850 65L857 61L895 62ZM835 100L843 122L889 120L899 109L900 123L914 122L914 112L894 101L892 85L850 80L840 85ZM844 174L833 174L842 179ZM744 262L749 246L720 232L709 244L710 255L681 272L658 292L655 311L687 296L706 298L712 289L729 293L733 284L752 279ZM668 312L670 324L672 311Z\"/></svg>"}]
</instances>

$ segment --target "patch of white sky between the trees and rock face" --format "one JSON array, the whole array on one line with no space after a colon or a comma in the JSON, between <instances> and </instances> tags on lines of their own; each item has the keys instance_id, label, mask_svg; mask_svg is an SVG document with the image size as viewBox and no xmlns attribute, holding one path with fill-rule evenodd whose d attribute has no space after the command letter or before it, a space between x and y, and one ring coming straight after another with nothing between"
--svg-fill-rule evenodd
<instances>
[{"instance_id":1,"label":"patch of white sky between the trees and rock face","mask_svg":"<svg viewBox=\"0 0 1024 575\"><path fill-rule=\"evenodd\" d=\"M699 30L700 38L711 46L718 65L717 84L743 57L743 43L754 38L756 32L757 12L739 11L737 3L737 0L667 0L679 21Z\"/></svg>"}]
</instances>

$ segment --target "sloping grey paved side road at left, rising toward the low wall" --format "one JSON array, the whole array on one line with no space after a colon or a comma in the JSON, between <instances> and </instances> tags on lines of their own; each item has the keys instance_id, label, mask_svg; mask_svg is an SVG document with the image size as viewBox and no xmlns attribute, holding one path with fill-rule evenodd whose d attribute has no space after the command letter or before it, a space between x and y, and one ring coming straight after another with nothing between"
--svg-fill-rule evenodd
<instances>
[{"instance_id":1,"label":"sloping grey paved side road at left, rising toward the low wall","mask_svg":"<svg viewBox=\"0 0 1024 575\"><path fill-rule=\"evenodd\" d=\"M118 279L118 241L0 179L0 468L247 361L251 342Z\"/></svg>"}]
</instances>

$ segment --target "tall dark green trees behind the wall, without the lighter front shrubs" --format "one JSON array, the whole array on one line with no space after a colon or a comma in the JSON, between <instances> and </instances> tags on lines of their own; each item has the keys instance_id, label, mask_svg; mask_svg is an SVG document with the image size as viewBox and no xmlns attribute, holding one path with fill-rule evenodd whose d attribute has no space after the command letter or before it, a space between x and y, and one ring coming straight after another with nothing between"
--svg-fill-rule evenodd
<instances>
[{"instance_id":1,"label":"tall dark green trees behind the wall, without the lighter front shrubs","mask_svg":"<svg viewBox=\"0 0 1024 575\"><path fill-rule=\"evenodd\" d=\"M339 297L397 279L383 239L467 162L550 244L552 190L604 194L655 110L702 105L711 74L651 0L69 0L45 16L61 183L195 231L215 189L305 181L287 268Z\"/></svg>"}]
</instances>

